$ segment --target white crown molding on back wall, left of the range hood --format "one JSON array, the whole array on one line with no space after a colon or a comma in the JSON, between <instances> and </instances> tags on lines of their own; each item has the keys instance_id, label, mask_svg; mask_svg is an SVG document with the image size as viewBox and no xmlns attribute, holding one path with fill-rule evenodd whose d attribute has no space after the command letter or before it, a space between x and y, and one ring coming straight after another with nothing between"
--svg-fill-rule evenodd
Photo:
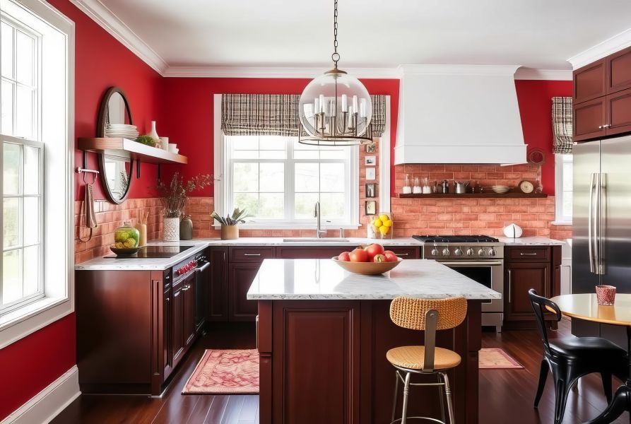
<instances>
[{"instance_id":1,"label":"white crown molding on back wall, left of the range hood","mask_svg":"<svg viewBox=\"0 0 631 424\"><path fill-rule=\"evenodd\" d=\"M172 78L315 78L322 68L273 66L169 66L163 76ZM355 78L399 78L396 68L344 68Z\"/></svg>"}]
</instances>

